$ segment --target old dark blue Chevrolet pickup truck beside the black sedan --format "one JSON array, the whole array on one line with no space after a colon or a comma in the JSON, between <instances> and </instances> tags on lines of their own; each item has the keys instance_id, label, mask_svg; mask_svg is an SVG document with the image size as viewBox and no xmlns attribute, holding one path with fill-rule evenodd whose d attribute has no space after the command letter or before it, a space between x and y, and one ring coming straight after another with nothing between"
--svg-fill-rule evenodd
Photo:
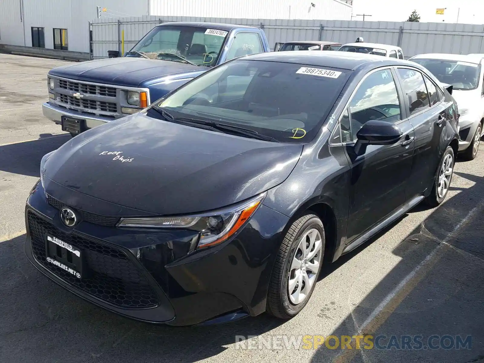
<instances>
[{"instance_id":1,"label":"old dark blue Chevrolet pickup truck beside the black sedan","mask_svg":"<svg viewBox=\"0 0 484 363\"><path fill-rule=\"evenodd\" d=\"M171 22L154 27L123 57L69 64L47 76L44 116L72 136L136 113L210 68L269 52L259 28Z\"/></svg>"}]
</instances>

